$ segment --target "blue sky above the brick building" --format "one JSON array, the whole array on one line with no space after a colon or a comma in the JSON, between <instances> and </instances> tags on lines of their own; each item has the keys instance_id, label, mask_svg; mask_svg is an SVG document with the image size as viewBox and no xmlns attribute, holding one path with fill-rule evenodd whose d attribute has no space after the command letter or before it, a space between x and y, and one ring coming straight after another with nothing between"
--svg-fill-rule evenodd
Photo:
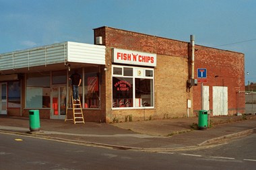
<instances>
[{"instance_id":1,"label":"blue sky above the brick building","mask_svg":"<svg viewBox=\"0 0 256 170\"><path fill-rule=\"evenodd\" d=\"M256 83L255 0L0 0L0 53L93 44L101 26L242 52L246 83Z\"/></svg>"}]
</instances>

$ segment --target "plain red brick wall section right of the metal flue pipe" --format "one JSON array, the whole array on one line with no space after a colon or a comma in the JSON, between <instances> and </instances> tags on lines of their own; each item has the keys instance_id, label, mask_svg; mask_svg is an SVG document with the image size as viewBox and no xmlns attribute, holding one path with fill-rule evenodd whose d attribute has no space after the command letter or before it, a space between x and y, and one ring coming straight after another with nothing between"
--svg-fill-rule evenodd
<instances>
[{"instance_id":1,"label":"plain red brick wall section right of the metal flue pipe","mask_svg":"<svg viewBox=\"0 0 256 170\"><path fill-rule=\"evenodd\" d=\"M245 56L242 53L196 46L195 78L197 69L207 69L207 83L210 89L210 110L212 104L212 87L228 87L228 114L236 114L237 108L245 108L245 102L238 103L238 91L245 91ZM201 84L194 87L194 111L201 110ZM241 99L240 99L241 100ZM245 99L242 99L245 101ZM238 105L239 104L239 105Z\"/></svg>"}]
</instances>

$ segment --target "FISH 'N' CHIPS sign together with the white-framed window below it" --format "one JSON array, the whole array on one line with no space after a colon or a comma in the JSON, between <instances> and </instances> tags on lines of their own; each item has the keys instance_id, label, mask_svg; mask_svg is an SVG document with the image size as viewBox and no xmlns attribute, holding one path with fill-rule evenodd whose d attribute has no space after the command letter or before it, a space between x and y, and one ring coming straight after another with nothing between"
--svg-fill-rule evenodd
<instances>
[{"instance_id":1,"label":"FISH 'N' CHIPS sign together with the white-framed window below it","mask_svg":"<svg viewBox=\"0 0 256 170\"><path fill-rule=\"evenodd\" d=\"M154 67L156 54L113 49L113 109L154 108Z\"/></svg>"}]
</instances>

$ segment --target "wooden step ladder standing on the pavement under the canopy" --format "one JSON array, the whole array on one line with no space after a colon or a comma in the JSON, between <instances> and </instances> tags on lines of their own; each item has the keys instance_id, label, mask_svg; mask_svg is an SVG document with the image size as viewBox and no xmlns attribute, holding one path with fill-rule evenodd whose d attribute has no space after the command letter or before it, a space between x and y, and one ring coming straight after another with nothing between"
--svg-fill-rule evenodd
<instances>
[{"instance_id":1,"label":"wooden step ladder standing on the pavement under the canopy","mask_svg":"<svg viewBox=\"0 0 256 170\"><path fill-rule=\"evenodd\" d=\"M77 123L85 124L80 97L78 98L77 101L75 101L75 99L73 99L73 95L71 95L71 96L72 96L73 119L67 119L67 108L66 108L65 122L68 120L73 120L74 124L77 124Z\"/></svg>"}]
</instances>

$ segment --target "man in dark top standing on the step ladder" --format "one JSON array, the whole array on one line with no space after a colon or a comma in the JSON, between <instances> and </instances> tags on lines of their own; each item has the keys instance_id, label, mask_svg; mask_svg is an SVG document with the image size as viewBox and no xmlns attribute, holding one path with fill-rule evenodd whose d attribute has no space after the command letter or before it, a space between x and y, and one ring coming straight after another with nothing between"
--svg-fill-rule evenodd
<instances>
[{"instance_id":1,"label":"man in dark top standing on the step ladder","mask_svg":"<svg viewBox=\"0 0 256 170\"><path fill-rule=\"evenodd\" d=\"M79 101L79 85L82 82L81 76L77 73L77 70L75 70L69 79L72 81L73 100Z\"/></svg>"}]
</instances>

